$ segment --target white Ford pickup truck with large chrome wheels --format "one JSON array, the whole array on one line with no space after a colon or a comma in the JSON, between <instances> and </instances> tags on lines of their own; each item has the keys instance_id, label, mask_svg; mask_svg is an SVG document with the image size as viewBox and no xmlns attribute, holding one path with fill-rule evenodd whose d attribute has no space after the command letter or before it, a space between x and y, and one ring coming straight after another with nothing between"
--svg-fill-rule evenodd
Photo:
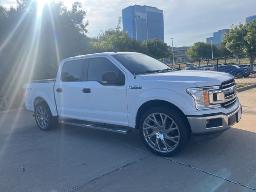
<instances>
[{"instance_id":1,"label":"white Ford pickup truck with large chrome wheels","mask_svg":"<svg viewBox=\"0 0 256 192\"><path fill-rule=\"evenodd\" d=\"M155 154L180 152L191 134L218 136L241 118L234 76L177 71L147 55L107 52L62 60L56 79L24 84L41 130L58 123L127 134Z\"/></svg>"}]
</instances>

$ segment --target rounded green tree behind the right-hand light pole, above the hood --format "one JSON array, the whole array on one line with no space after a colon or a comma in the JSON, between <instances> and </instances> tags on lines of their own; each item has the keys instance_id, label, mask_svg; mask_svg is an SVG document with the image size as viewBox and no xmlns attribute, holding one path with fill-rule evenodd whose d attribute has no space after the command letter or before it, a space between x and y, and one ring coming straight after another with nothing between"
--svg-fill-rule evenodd
<instances>
[{"instance_id":1,"label":"rounded green tree behind the right-hand light pole, above the hood","mask_svg":"<svg viewBox=\"0 0 256 192\"><path fill-rule=\"evenodd\" d=\"M210 43L196 42L186 51L186 55L190 60L198 61L212 58L212 52L213 58L218 57L219 51L215 45L211 47Z\"/></svg>"}]
</instances>

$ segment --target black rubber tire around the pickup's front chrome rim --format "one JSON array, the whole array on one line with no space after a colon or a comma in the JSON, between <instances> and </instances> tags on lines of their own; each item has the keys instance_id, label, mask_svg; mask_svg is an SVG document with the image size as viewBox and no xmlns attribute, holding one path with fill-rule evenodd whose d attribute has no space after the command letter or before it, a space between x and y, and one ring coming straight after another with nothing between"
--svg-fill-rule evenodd
<instances>
[{"instance_id":1,"label":"black rubber tire around the pickup's front chrome rim","mask_svg":"<svg viewBox=\"0 0 256 192\"><path fill-rule=\"evenodd\" d=\"M168 116L172 121L175 122L176 126L177 126L177 130L175 130L176 132L178 132L179 134L179 141L178 141L178 144L176 144L176 147L172 150L170 148L170 152L168 152L168 147L164 147L163 149L166 149L165 152L161 152L160 151L160 145L162 143L162 146L164 146L164 143L167 144L167 140L168 138L165 137L165 136L169 136L169 135L165 135L164 136L164 139L163 138L160 138L161 142L158 142L158 148L159 148L159 151L158 149L154 149L152 148L152 146L150 146L150 144L154 143L154 136L152 137L152 139L150 140L150 138L147 137L147 139L150 140L150 144L148 144L148 141L146 139L146 137L144 137L144 133L145 133L145 130L146 129L151 129L151 128L146 128L144 130L144 133L143 133L143 126L144 126L144 121L148 120L148 117L150 116L150 114L164 114L166 116ZM163 116L163 115L159 115L159 116ZM157 117L156 117L157 118ZM170 120L170 122L171 122ZM154 123L152 121L152 123ZM155 125L155 124L154 124ZM167 123L166 125L167 126ZM170 128L172 128L170 126ZM140 119L140 124L139 124L139 130L140 130L140 137L142 139L142 142L144 143L144 145L148 148L148 150L150 150L151 152L153 152L154 154L156 155L159 155L159 156L173 156L175 154L178 154L179 152L181 152L185 146L188 144L189 140L190 140L190 134L191 134L191 131L190 131L190 125L188 123L188 120L186 120L186 117L184 116L184 114L182 114L181 112L179 112L178 110L176 109L173 109L173 108L167 108L165 106L158 106L158 107L154 107L154 108L151 108L149 110L147 110L143 115L142 115L142 118ZM168 130L168 129L167 129ZM166 131L167 131L166 130ZM159 131L159 130L158 130ZM155 129L152 129L152 132L158 132L156 131ZM160 131L161 132L161 131ZM158 132L158 134L160 134L160 132ZM169 133L168 133L169 134ZM148 135L148 134L147 134ZM146 136L147 136L146 135ZM164 134L163 134L164 135ZM160 135L155 135L155 138L157 139L158 136ZM167 139L167 140L166 140ZM170 139L170 138L169 138ZM164 142L163 142L164 140ZM152 141L152 142L151 142ZM159 141L159 138L158 138L158 141ZM168 140L170 142L170 140ZM151 144L151 145L152 145ZM169 146L170 143L168 143L167 146ZM155 146L156 146L156 142L155 142ZM166 146L166 145L165 145Z\"/></svg>"}]
</instances>

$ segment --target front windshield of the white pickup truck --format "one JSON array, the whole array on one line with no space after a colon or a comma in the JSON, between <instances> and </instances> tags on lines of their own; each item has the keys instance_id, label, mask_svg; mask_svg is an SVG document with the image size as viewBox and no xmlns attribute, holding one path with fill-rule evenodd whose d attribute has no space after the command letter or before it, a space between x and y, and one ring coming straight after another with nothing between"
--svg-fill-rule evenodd
<instances>
[{"instance_id":1,"label":"front windshield of the white pickup truck","mask_svg":"<svg viewBox=\"0 0 256 192\"><path fill-rule=\"evenodd\" d=\"M171 68L162 62L144 54L116 54L112 56L132 74L166 72L171 70Z\"/></svg>"}]
</instances>

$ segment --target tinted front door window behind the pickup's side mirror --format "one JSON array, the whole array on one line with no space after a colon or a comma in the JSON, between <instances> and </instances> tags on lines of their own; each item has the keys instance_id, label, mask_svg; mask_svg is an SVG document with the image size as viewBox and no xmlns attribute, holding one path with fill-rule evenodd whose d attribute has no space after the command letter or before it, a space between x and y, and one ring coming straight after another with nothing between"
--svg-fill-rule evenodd
<instances>
[{"instance_id":1,"label":"tinted front door window behind the pickup's side mirror","mask_svg":"<svg viewBox=\"0 0 256 192\"><path fill-rule=\"evenodd\" d=\"M104 72L113 71L116 73L118 80L124 80L124 74L106 58L91 58L88 68L88 81L102 82Z\"/></svg>"}]
</instances>

